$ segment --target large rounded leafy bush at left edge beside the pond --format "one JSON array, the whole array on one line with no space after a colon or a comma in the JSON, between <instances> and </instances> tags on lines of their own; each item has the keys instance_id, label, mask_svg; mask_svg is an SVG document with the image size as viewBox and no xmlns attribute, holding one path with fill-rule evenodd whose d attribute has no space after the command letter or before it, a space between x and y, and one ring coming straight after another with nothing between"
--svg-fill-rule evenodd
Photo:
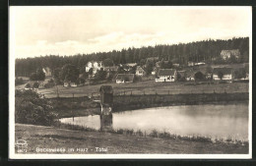
<instances>
[{"instance_id":1,"label":"large rounded leafy bush at left edge beside the pond","mask_svg":"<svg viewBox=\"0 0 256 166\"><path fill-rule=\"evenodd\" d=\"M15 122L32 125L51 126L56 122L57 114L51 104L32 90L16 90Z\"/></svg>"}]
</instances>

